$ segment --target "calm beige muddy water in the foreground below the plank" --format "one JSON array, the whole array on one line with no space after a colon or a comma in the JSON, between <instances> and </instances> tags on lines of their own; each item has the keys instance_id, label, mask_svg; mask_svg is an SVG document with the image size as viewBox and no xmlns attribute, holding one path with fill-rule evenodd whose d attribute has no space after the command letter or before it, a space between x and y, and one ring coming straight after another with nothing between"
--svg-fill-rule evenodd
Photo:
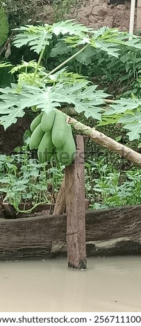
<instances>
[{"instance_id":1,"label":"calm beige muddy water in the foreground below the plank","mask_svg":"<svg viewBox=\"0 0 141 326\"><path fill-rule=\"evenodd\" d=\"M141 258L0 262L0 311L140 311Z\"/></svg>"}]
</instances>

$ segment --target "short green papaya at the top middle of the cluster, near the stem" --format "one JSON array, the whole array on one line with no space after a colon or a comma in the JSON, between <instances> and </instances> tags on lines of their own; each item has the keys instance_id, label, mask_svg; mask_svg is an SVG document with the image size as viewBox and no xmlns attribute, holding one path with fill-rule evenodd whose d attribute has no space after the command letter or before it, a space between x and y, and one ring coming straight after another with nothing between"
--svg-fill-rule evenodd
<instances>
[{"instance_id":1,"label":"short green papaya at the top middle of the cluster, near the stem","mask_svg":"<svg viewBox=\"0 0 141 326\"><path fill-rule=\"evenodd\" d=\"M42 114L41 128L44 132L47 132L52 129L55 115L56 115L55 110L52 110L51 112L49 112L49 114L47 114L46 112Z\"/></svg>"}]
</instances>

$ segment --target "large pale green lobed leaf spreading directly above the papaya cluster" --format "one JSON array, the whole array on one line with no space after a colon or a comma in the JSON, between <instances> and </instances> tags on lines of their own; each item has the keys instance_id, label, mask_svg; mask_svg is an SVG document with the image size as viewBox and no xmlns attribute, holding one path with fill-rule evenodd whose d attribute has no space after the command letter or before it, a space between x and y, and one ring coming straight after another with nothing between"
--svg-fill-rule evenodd
<instances>
[{"instance_id":1,"label":"large pale green lobed leaf spreading directly above the papaya cluster","mask_svg":"<svg viewBox=\"0 0 141 326\"><path fill-rule=\"evenodd\" d=\"M88 86L88 81L74 83L72 85L58 84L54 87L34 87L22 85L19 89L17 85L0 89L0 114L1 124L8 128L17 121L17 117L24 116L24 109L33 105L44 112L50 112L53 108L60 107L61 103L73 104L77 112L84 112L85 117L93 117L101 120L103 109L101 104L103 98L108 94L96 90L96 86ZM90 87L90 90L89 90Z\"/></svg>"}]
</instances>

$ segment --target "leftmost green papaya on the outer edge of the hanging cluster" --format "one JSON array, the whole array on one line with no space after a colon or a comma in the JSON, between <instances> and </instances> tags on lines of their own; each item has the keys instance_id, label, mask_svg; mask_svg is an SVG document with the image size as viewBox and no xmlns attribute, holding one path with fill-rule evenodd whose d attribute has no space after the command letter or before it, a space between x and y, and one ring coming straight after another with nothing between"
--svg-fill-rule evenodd
<instances>
[{"instance_id":1,"label":"leftmost green papaya on the outer edge of the hanging cluster","mask_svg":"<svg viewBox=\"0 0 141 326\"><path fill-rule=\"evenodd\" d=\"M31 138L29 141L29 148L32 150L33 148L38 148L42 136L44 135L44 131L42 131L40 123L38 126L33 130L31 134Z\"/></svg>"}]
</instances>

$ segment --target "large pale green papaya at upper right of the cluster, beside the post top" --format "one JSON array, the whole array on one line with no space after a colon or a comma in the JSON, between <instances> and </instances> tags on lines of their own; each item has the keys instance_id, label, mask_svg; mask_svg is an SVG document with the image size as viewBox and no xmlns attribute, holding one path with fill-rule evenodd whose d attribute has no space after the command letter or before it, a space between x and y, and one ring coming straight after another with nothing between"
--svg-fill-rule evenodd
<instances>
[{"instance_id":1,"label":"large pale green papaya at upper right of the cluster, beside the post top","mask_svg":"<svg viewBox=\"0 0 141 326\"><path fill-rule=\"evenodd\" d=\"M52 142L56 148L61 148L67 138L67 123L65 121L65 114L56 110L56 116L52 128Z\"/></svg>"}]
</instances>

